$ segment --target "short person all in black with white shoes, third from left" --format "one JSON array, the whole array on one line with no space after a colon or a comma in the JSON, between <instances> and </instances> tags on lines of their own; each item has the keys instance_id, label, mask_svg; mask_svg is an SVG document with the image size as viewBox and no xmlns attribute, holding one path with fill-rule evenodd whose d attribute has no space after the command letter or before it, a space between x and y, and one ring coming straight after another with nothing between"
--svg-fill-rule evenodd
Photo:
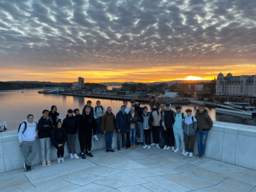
<instances>
[{"instance_id":1,"label":"short person all in black with white shoes, third from left","mask_svg":"<svg viewBox=\"0 0 256 192\"><path fill-rule=\"evenodd\" d=\"M64 145L67 141L67 133L62 127L61 122L58 122L51 132L51 142L57 149L58 163L65 163L64 160Z\"/></svg>"}]
</instances>

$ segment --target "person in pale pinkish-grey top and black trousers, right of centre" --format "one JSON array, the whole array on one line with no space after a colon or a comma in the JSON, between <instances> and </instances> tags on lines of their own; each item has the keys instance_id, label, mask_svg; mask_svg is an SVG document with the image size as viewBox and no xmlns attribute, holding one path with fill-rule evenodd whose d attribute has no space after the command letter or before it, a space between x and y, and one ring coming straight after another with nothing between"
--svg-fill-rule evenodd
<instances>
[{"instance_id":1,"label":"person in pale pinkish-grey top and black trousers, right of centre","mask_svg":"<svg viewBox=\"0 0 256 192\"><path fill-rule=\"evenodd\" d=\"M157 145L157 147L159 147L161 111L157 108L157 104L152 105L151 113L154 119L154 122L152 122L153 143L151 144L151 146Z\"/></svg>"}]
</instances>

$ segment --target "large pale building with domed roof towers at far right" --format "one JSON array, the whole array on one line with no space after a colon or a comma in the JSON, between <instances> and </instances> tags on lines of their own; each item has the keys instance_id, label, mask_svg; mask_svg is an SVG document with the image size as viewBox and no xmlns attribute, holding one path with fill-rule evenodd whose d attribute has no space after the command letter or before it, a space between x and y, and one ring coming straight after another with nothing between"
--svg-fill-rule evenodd
<instances>
[{"instance_id":1,"label":"large pale building with domed roof towers at far right","mask_svg":"<svg viewBox=\"0 0 256 192\"><path fill-rule=\"evenodd\" d=\"M228 73L224 77L220 73L216 80L216 95L256 97L256 75L232 76Z\"/></svg>"}]
</instances>

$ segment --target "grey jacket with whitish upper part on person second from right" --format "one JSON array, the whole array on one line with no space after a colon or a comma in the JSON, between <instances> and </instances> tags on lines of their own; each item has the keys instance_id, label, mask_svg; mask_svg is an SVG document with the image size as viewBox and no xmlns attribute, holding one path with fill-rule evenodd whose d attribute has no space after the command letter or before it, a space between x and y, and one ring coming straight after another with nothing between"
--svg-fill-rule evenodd
<instances>
[{"instance_id":1,"label":"grey jacket with whitish upper part on person second from right","mask_svg":"<svg viewBox=\"0 0 256 192\"><path fill-rule=\"evenodd\" d=\"M191 114L190 117L184 118L182 122L182 129L186 136L194 136L198 129L198 122L195 117Z\"/></svg>"}]
</instances>

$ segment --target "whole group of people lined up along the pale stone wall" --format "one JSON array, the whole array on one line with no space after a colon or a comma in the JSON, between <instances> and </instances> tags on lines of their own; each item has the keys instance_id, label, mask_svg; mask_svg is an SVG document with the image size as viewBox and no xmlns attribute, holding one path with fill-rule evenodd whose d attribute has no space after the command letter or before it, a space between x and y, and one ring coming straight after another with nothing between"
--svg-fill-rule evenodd
<instances>
[{"instance_id":1,"label":"whole group of people lined up along the pale stone wall","mask_svg":"<svg viewBox=\"0 0 256 192\"><path fill-rule=\"evenodd\" d=\"M71 159L93 157L91 153L92 140L105 136L106 152L115 152L112 148L113 133L117 134L118 150L136 148L136 145L161 147L163 150L179 152L179 143L182 143L182 154L193 157L195 134L198 137L198 158L203 159L208 131L213 122L205 106L200 105L193 116L191 109L186 109L186 115L176 106L176 112L171 110L171 104L160 103L159 99L150 95L150 108L141 107L141 104L131 100L131 106L127 106L127 100L118 109L118 113L112 113L111 106L105 108L100 101L92 107L88 100L80 114L79 109L68 109L66 118L62 121L56 106L51 106L51 111L42 111L42 117L38 124L34 121L33 114L27 115L27 119L19 125L19 145L24 155L24 170L31 170L31 163L37 147L35 138L40 140L42 166L50 166L51 146L56 147L58 163L65 163L64 145ZM151 133L152 132L152 133ZM78 155L75 142L79 138L81 153ZM152 136L151 136L152 135ZM151 142L151 138L153 141ZM160 141L161 138L161 141ZM175 149L176 143L176 149Z\"/></svg>"}]
</instances>

